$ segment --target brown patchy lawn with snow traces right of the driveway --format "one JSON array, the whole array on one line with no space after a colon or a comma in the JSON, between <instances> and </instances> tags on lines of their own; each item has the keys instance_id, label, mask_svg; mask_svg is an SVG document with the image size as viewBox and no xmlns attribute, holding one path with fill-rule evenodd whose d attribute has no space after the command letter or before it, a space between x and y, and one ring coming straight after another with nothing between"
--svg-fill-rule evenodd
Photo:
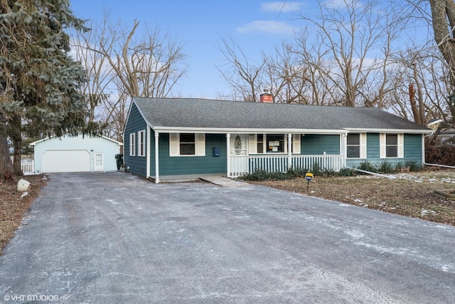
<instances>
[{"instance_id":1,"label":"brown patchy lawn with snow traces right of the driveway","mask_svg":"<svg viewBox=\"0 0 455 304\"><path fill-rule=\"evenodd\" d=\"M455 201L434 194L455 190L455 170L387 176L314 177L308 192L301 178L251 183L455 226Z\"/></svg>"}]
</instances>

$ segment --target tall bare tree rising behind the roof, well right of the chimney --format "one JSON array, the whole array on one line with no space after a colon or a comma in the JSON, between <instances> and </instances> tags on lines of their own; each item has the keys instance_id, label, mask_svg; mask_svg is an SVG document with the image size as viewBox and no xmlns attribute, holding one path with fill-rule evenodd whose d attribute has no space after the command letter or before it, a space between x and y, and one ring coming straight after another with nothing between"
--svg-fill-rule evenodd
<instances>
[{"instance_id":1,"label":"tall bare tree rising behind the roof, well right of the chimney","mask_svg":"<svg viewBox=\"0 0 455 304\"><path fill-rule=\"evenodd\" d=\"M384 58L378 57L378 47L387 41L390 11L379 9L378 1L317 1L319 15L301 14L301 19L314 28L323 60L331 68L318 68L319 73L335 85L342 100L338 103L359 105L363 85L370 80L373 70L382 67ZM382 55L385 55L383 53ZM333 96L335 97L335 96ZM364 103L365 105L365 103Z\"/></svg>"}]
</instances>

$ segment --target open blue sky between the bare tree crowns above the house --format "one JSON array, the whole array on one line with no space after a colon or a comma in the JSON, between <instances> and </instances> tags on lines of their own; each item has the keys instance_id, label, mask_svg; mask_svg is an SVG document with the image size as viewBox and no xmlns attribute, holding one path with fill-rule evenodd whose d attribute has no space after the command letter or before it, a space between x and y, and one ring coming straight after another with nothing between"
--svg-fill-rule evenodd
<instances>
[{"instance_id":1,"label":"open blue sky between the bare tree crowns above the house","mask_svg":"<svg viewBox=\"0 0 455 304\"><path fill-rule=\"evenodd\" d=\"M132 26L137 19L149 28L169 28L183 44L189 70L178 86L181 97L217 98L226 91L216 66L223 65L218 48L222 38L232 38L254 59L269 53L280 41L291 38L296 6L304 2L256 0L72 0L71 8L81 19L102 21L104 9L114 21ZM294 19L294 21L293 21Z\"/></svg>"}]
</instances>

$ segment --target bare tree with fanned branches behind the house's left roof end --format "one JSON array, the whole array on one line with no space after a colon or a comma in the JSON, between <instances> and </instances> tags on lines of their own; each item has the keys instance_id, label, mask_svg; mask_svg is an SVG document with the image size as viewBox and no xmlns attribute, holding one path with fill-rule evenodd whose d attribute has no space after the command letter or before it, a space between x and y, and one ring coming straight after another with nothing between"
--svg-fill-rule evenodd
<instances>
[{"instance_id":1,"label":"bare tree with fanned branches behind the house's left roof end","mask_svg":"<svg viewBox=\"0 0 455 304\"><path fill-rule=\"evenodd\" d=\"M187 71L183 46L159 26L154 31L145 27L139 34L138 27L139 22L134 21L127 31L106 15L100 43L90 50L106 58L130 96L166 97Z\"/></svg>"}]
</instances>

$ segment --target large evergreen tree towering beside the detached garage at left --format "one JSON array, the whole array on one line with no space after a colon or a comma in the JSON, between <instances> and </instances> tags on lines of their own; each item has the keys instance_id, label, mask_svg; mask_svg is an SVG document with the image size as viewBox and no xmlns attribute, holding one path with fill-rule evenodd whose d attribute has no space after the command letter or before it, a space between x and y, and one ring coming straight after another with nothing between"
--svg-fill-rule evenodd
<instances>
[{"instance_id":1,"label":"large evergreen tree towering beside the detached garage at left","mask_svg":"<svg viewBox=\"0 0 455 304\"><path fill-rule=\"evenodd\" d=\"M70 28L87 30L68 0L0 1L1 179L21 174L23 136L88 130L87 105L78 90L86 73L68 54ZM3 155L5 136L14 143L14 172Z\"/></svg>"}]
</instances>

